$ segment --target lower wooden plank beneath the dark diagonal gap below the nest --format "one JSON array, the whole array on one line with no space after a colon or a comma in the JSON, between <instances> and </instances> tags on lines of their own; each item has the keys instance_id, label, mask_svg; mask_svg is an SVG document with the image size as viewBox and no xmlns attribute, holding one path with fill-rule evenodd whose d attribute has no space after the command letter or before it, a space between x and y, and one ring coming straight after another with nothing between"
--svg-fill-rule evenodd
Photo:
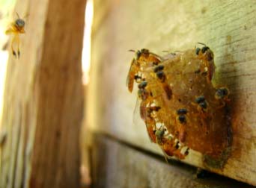
<instances>
[{"instance_id":1,"label":"lower wooden plank beneath the dark diagonal gap below the nest","mask_svg":"<svg viewBox=\"0 0 256 188\"><path fill-rule=\"evenodd\" d=\"M252 187L220 175L196 177L196 168L162 157L150 156L102 134L96 134L92 150L94 187Z\"/></svg>"}]
</instances>

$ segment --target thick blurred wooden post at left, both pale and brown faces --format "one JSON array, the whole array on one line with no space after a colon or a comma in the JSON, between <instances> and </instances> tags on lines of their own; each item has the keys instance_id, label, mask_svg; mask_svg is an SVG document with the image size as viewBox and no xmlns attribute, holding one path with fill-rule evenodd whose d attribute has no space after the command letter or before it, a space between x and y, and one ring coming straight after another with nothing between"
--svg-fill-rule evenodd
<instances>
[{"instance_id":1,"label":"thick blurred wooden post at left, both pale and brown faces","mask_svg":"<svg viewBox=\"0 0 256 188\"><path fill-rule=\"evenodd\" d=\"M22 0L16 11L29 16L7 67L0 187L79 187L85 0Z\"/></svg>"}]
</instances>

